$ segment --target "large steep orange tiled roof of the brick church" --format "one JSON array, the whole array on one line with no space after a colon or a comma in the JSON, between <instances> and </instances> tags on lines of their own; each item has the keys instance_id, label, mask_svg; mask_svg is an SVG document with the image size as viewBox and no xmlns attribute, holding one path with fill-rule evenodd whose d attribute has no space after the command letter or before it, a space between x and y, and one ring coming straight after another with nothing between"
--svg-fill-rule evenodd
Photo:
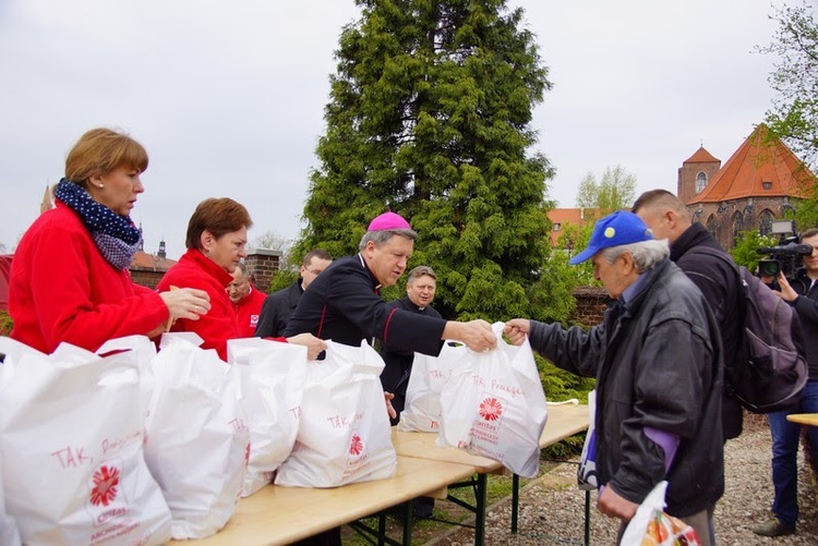
<instances>
[{"instance_id":1,"label":"large steep orange tiled roof of the brick church","mask_svg":"<svg viewBox=\"0 0 818 546\"><path fill-rule=\"evenodd\" d=\"M804 198L815 184L815 174L761 123L688 205L748 197Z\"/></svg>"}]
</instances>

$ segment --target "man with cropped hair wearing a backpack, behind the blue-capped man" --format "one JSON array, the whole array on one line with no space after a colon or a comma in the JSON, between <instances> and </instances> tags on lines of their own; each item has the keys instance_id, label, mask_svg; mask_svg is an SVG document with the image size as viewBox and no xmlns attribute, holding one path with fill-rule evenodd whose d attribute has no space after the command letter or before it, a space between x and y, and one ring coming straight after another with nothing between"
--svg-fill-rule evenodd
<instances>
[{"instance_id":1,"label":"man with cropped hair wearing a backpack, behind the blue-capped man","mask_svg":"<svg viewBox=\"0 0 818 546\"><path fill-rule=\"evenodd\" d=\"M721 332L722 347L739 347L742 341L741 305L744 290L738 283L733 258L722 250L719 242L701 223L693 223L687 208L678 197L666 190L651 190L641 194L634 203L634 213L653 232L655 239L666 239L671 245L671 260L690 278L710 310L715 315ZM712 248L722 257L702 248ZM742 434L744 411L730 388L731 373L746 365L741 351L724 354L724 391L722 392L721 423L724 439Z\"/></svg>"}]
</instances>

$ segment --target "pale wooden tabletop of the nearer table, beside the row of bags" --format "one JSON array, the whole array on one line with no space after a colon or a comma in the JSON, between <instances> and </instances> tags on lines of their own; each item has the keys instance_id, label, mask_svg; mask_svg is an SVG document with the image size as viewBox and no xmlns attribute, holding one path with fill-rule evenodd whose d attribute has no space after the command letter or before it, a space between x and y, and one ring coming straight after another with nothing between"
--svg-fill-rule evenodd
<instances>
[{"instance_id":1,"label":"pale wooden tabletop of the nearer table, beside the row of bags","mask_svg":"<svg viewBox=\"0 0 818 546\"><path fill-rule=\"evenodd\" d=\"M395 475L332 489L268 485L239 500L236 513L216 535L196 546L290 544L322 531L435 493L472 476L473 466L431 459L398 457ZM181 545L187 541L171 541Z\"/></svg>"}]
</instances>

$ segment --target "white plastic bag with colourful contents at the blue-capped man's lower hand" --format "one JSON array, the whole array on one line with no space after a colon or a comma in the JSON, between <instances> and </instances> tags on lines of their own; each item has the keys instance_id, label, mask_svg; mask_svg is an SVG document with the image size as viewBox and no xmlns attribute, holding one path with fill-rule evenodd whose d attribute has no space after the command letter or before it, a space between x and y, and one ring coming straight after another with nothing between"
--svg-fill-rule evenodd
<instances>
[{"instance_id":1,"label":"white plastic bag with colourful contents at the blue-capped man's lower hand","mask_svg":"<svg viewBox=\"0 0 818 546\"><path fill-rule=\"evenodd\" d=\"M621 546L699 546L696 531L664 512L667 482L659 482L636 509L622 534Z\"/></svg>"}]
</instances>

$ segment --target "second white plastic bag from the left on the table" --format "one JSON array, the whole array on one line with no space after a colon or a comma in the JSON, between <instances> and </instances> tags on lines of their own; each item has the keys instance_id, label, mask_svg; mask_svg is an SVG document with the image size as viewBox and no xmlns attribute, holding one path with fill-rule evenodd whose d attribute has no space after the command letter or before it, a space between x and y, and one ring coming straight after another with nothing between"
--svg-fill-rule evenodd
<instances>
[{"instance_id":1,"label":"second white plastic bag from the left on the table","mask_svg":"<svg viewBox=\"0 0 818 546\"><path fill-rule=\"evenodd\" d=\"M250 452L239 371L189 338L164 335L145 459L172 514L173 538L204 538L236 511Z\"/></svg>"}]
</instances>

